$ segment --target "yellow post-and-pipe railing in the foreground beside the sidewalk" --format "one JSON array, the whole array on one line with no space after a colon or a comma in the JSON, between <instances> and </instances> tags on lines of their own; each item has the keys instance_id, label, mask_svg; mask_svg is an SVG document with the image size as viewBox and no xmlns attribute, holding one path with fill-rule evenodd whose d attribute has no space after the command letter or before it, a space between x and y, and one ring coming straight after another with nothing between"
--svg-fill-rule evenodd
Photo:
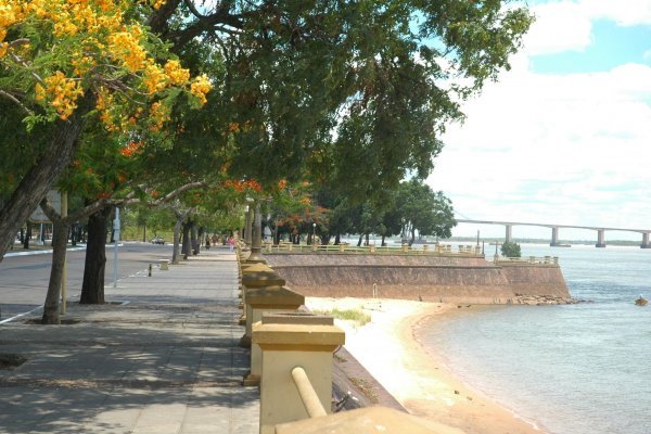
<instances>
[{"instance_id":1,"label":"yellow post-and-pipe railing in the foreground beside the sidewalk","mask_svg":"<svg viewBox=\"0 0 651 434\"><path fill-rule=\"evenodd\" d=\"M246 256L239 250L240 258ZM244 385L260 387L260 434L385 432L459 434L459 430L383 407L332 414L332 355L345 334L330 316L297 310L304 297L266 264L240 264L243 345L251 345Z\"/></svg>"}]
</instances>

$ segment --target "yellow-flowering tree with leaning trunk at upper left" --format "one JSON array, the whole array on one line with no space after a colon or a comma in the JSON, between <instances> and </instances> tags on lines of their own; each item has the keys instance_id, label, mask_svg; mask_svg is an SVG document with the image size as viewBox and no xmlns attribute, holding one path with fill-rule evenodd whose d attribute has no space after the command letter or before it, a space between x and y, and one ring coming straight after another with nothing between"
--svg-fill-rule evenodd
<instances>
[{"instance_id":1,"label":"yellow-flowering tree with leaning trunk at upper left","mask_svg":"<svg viewBox=\"0 0 651 434\"><path fill-rule=\"evenodd\" d=\"M195 107L206 102L208 78L191 77L141 23L164 3L0 0L0 100L10 108L3 113L18 116L44 142L5 188L11 196L0 209L0 260L88 125L128 143L161 131L179 95ZM11 153L11 143L1 144Z\"/></svg>"}]
</instances>

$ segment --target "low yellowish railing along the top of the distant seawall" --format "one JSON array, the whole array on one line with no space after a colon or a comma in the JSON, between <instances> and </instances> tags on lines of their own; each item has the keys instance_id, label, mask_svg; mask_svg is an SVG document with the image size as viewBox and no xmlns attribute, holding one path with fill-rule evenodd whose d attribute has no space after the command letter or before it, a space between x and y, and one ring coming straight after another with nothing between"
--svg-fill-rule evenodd
<instances>
[{"instance_id":1,"label":"low yellowish railing along the top of the distant seawall","mask_svg":"<svg viewBox=\"0 0 651 434\"><path fill-rule=\"evenodd\" d=\"M292 244L292 243L280 243L271 244L266 243L264 247L265 253L358 253L358 254L409 254L409 255L434 255L434 256L471 256L471 257L483 257L482 248L475 245L458 245L456 250L452 250L451 244L419 244L410 246L409 244L403 245L384 245L379 246L370 244L367 246L356 246L352 244L337 244L337 245L320 245L320 244Z\"/></svg>"}]
</instances>

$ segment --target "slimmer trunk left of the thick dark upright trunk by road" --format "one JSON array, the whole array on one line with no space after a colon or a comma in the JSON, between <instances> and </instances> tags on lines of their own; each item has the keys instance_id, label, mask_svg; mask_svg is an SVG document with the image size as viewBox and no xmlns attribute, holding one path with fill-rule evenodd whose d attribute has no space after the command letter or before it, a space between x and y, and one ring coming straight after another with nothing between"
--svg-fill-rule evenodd
<instances>
[{"instance_id":1,"label":"slimmer trunk left of the thick dark upright trunk by road","mask_svg":"<svg viewBox=\"0 0 651 434\"><path fill-rule=\"evenodd\" d=\"M52 268L50 269L50 283L43 305L43 324L59 324L59 298L61 297L61 283L63 279L63 266L67 254L67 234L69 225L63 219L54 220L54 233L52 234Z\"/></svg>"}]
</instances>

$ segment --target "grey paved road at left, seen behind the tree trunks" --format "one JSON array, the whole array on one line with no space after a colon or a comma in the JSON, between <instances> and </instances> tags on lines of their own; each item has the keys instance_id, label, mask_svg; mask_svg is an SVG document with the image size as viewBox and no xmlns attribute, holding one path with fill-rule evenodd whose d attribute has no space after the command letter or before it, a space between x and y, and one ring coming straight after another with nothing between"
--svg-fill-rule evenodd
<instances>
[{"instance_id":1,"label":"grey paved road at left, seen behind the tree trunks","mask_svg":"<svg viewBox=\"0 0 651 434\"><path fill-rule=\"evenodd\" d=\"M10 253L23 253L14 251ZM42 306L50 280L51 253L5 256L0 261L0 321ZM113 246L106 248L105 284L113 285ZM149 264L171 258L171 245L125 242L118 248L118 283L129 276L144 275ZM67 295L79 299L84 280L85 250L68 252Z\"/></svg>"}]
</instances>

